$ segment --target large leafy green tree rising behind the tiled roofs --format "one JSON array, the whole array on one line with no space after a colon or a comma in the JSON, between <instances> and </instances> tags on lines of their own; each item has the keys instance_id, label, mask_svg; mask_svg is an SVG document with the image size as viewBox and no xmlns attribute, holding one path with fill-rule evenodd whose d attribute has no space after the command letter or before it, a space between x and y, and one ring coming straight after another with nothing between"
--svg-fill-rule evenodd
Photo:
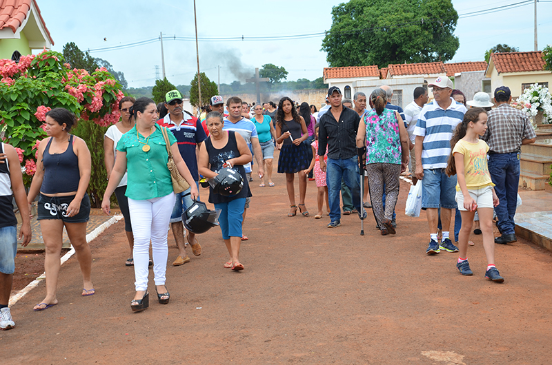
<instances>
[{"instance_id":1,"label":"large leafy green tree rising behind the tiled roofs","mask_svg":"<svg viewBox=\"0 0 552 365\"><path fill-rule=\"evenodd\" d=\"M460 41L451 0L351 0L322 41L331 67L448 61Z\"/></svg>"}]
</instances>

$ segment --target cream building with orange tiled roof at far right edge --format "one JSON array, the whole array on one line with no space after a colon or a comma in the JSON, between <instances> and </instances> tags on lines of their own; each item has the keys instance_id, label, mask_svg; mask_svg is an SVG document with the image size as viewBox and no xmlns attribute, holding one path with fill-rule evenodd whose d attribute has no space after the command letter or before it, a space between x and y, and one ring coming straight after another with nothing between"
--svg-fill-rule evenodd
<instances>
[{"instance_id":1,"label":"cream building with orange tiled roof at far right edge","mask_svg":"<svg viewBox=\"0 0 552 365\"><path fill-rule=\"evenodd\" d=\"M491 92L499 86L507 86L515 99L533 83L552 87L552 72L544 70L544 64L540 51L491 54L485 70L491 79Z\"/></svg>"}]
</instances>

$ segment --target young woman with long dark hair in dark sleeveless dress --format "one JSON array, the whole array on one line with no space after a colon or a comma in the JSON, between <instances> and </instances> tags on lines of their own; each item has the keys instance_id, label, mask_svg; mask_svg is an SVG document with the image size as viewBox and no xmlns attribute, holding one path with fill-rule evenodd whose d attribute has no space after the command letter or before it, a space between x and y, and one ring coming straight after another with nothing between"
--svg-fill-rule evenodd
<instances>
[{"instance_id":1,"label":"young woman with long dark hair in dark sleeveless dress","mask_svg":"<svg viewBox=\"0 0 552 365\"><path fill-rule=\"evenodd\" d=\"M288 217L293 217L297 214L294 186L296 172L299 177L299 211L306 217L308 216L308 211L305 207L307 175L305 170L311 165L312 158L308 158L308 149L311 147L307 147L303 143L308 138L305 121L302 116L297 114L293 101L287 96L284 96L278 105L276 136L276 143L282 143L278 159L278 172L286 174L286 188L288 190L290 205Z\"/></svg>"}]
</instances>

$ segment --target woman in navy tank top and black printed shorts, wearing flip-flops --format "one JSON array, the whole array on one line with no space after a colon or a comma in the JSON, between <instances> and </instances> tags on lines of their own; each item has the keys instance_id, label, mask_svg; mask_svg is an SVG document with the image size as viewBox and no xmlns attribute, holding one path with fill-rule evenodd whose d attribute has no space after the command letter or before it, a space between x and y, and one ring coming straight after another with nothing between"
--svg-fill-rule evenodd
<instances>
[{"instance_id":1,"label":"woman in navy tank top and black printed shorts, wearing flip-flops","mask_svg":"<svg viewBox=\"0 0 552 365\"><path fill-rule=\"evenodd\" d=\"M75 116L66 109L46 113L46 134L37 156L37 172L32 178L27 200L31 203L40 192L38 219L46 246L46 298L34 306L43 311L58 303L56 283L61 265L61 237L65 226L83 276L82 295L95 293L90 268L92 253L86 242L86 222L90 215L90 199L86 194L90 181L90 151L86 143L69 134Z\"/></svg>"}]
</instances>

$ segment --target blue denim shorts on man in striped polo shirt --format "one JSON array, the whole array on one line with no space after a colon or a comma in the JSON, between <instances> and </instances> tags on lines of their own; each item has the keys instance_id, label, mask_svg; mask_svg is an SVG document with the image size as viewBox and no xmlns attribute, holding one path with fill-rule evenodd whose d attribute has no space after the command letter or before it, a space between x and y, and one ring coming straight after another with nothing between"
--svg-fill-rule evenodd
<instances>
[{"instance_id":1,"label":"blue denim shorts on man in striped polo shirt","mask_svg":"<svg viewBox=\"0 0 552 365\"><path fill-rule=\"evenodd\" d=\"M456 175L446 176L445 169L424 169L422 208L456 208Z\"/></svg>"}]
</instances>

